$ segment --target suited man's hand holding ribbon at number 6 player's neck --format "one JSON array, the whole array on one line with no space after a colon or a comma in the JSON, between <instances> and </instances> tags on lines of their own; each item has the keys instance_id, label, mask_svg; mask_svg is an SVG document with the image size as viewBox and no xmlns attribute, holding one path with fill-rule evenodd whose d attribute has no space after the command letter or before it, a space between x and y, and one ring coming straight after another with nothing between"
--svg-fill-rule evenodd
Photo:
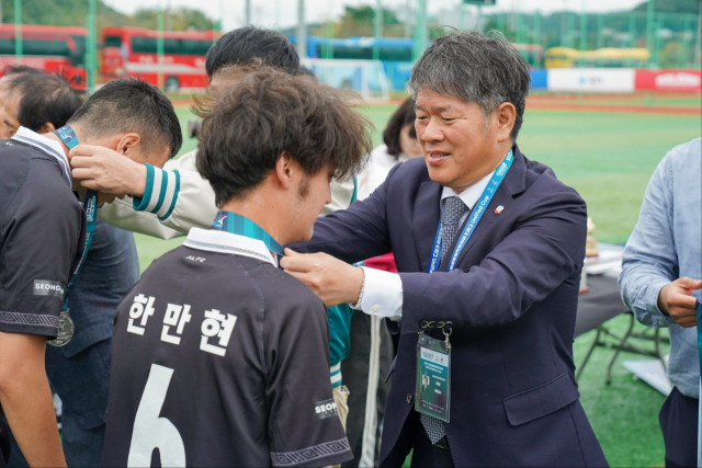
<instances>
[{"instance_id":1,"label":"suited man's hand holding ribbon at number 6 player's neck","mask_svg":"<svg viewBox=\"0 0 702 468\"><path fill-rule=\"evenodd\" d=\"M326 253L297 253L285 249L281 266L305 283L327 307L355 304L363 285L363 270Z\"/></svg>"}]
</instances>

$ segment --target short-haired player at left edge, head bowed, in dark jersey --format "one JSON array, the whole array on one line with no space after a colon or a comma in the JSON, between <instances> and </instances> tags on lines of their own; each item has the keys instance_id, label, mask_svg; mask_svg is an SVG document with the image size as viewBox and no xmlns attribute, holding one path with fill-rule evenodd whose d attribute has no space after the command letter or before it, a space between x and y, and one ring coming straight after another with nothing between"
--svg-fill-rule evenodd
<instances>
[{"instance_id":1,"label":"short-haired player at left edge, head bowed, in dark jersey","mask_svg":"<svg viewBox=\"0 0 702 468\"><path fill-rule=\"evenodd\" d=\"M132 79L101 88L68 125L79 141L157 165L182 141L170 101ZM44 356L86 243L69 159L55 134L20 127L0 142L0 420L4 411L30 466L66 466ZM73 189L81 191L78 183ZM8 435L0 424L0 466Z\"/></svg>"}]
</instances>

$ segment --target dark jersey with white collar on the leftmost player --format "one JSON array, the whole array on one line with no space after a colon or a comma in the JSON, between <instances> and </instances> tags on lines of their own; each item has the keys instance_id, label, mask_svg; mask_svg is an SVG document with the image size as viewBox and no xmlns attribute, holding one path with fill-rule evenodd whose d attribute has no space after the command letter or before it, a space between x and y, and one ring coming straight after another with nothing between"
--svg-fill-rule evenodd
<instances>
[{"instance_id":1,"label":"dark jersey with white collar on the leftmost player","mask_svg":"<svg viewBox=\"0 0 702 468\"><path fill-rule=\"evenodd\" d=\"M65 156L53 153L60 147L21 130L39 142L0 141L0 332L54 339L84 215L61 169ZM5 424L0 408L0 465L9 456Z\"/></svg>"}]
</instances>

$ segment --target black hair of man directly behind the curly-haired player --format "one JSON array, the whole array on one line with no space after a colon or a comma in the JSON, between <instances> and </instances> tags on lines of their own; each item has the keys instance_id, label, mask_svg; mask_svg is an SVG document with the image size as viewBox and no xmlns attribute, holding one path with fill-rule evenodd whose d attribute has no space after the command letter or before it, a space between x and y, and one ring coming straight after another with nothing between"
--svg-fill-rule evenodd
<instances>
[{"instance_id":1,"label":"black hair of man directly behind the curly-haired player","mask_svg":"<svg viewBox=\"0 0 702 468\"><path fill-rule=\"evenodd\" d=\"M205 57L205 70L212 80L215 72L231 65L250 65L260 59L261 65L294 71L299 68L295 46L278 31L254 26L239 27L219 37Z\"/></svg>"}]
</instances>

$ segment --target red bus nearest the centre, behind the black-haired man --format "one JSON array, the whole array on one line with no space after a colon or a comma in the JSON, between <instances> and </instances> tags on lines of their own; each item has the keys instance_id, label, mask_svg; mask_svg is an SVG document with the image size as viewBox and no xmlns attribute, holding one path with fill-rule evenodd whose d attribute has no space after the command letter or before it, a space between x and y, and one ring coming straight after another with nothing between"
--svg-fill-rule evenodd
<instances>
[{"instance_id":1,"label":"red bus nearest the centre, behind the black-haired man","mask_svg":"<svg viewBox=\"0 0 702 468\"><path fill-rule=\"evenodd\" d=\"M163 84L169 91L205 88L205 55L218 37L215 31L163 32ZM103 80L140 77L158 83L156 31L140 27L105 27L101 37Z\"/></svg>"}]
</instances>

